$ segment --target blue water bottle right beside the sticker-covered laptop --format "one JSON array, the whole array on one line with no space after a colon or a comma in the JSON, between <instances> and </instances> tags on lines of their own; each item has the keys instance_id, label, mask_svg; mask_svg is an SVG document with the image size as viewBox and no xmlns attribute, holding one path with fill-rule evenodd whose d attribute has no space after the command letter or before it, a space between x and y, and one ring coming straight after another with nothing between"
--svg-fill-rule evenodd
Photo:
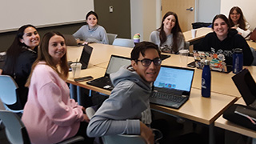
<instances>
[{"instance_id":1,"label":"blue water bottle right beside the sticker-covered laptop","mask_svg":"<svg viewBox=\"0 0 256 144\"><path fill-rule=\"evenodd\" d=\"M238 74L242 70L243 54L242 49L236 48L233 50L233 73Z\"/></svg>"}]
</instances>

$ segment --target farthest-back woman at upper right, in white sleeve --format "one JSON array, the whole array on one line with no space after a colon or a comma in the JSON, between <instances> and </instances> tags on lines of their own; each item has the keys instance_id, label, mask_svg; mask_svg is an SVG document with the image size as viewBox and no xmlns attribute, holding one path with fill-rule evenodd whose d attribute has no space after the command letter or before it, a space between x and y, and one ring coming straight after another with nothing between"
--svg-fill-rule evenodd
<instances>
[{"instance_id":1,"label":"farthest-back woman at upper right, in white sleeve","mask_svg":"<svg viewBox=\"0 0 256 144\"><path fill-rule=\"evenodd\" d=\"M243 38L249 38L250 25L246 22L246 18L244 18L242 10L238 6L230 9L229 20L232 29L238 30L238 34L241 34Z\"/></svg>"}]
</instances>

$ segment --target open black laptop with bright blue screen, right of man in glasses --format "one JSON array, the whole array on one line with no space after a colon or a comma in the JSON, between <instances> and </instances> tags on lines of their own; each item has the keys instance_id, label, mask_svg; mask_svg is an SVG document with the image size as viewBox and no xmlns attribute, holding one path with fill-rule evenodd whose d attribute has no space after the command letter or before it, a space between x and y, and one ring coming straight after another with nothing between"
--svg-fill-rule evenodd
<instances>
[{"instance_id":1,"label":"open black laptop with bright blue screen, right of man in glasses","mask_svg":"<svg viewBox=\"0 0 256 144\"><path fill-rule=\"evenodd\" d=\"M180 108L189 98L194 69L176 66L161 66L158 78L154 81L154 91L150 102Z\"/></svg>"}]
</instances>

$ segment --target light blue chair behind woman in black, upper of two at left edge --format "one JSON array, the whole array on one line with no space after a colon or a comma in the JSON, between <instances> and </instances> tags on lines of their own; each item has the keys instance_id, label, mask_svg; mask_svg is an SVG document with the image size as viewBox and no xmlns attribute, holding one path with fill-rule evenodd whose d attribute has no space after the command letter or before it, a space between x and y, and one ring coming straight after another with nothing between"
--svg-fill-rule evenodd
<instances>
[{"instance_id":1,"label":"light blue chair behind woman in black, upper of two at left edge","mask_svg":"<svg viewBox=\"0 0 256 144\"><path fill-rule=\"evenodd\" d=\"M6 110L14 113L22 113L23 110L11 110L7 105L13 105L17 102L16 90L18 85L9 75L0 75L0 98Z\"/></svg>"}]
</instances>

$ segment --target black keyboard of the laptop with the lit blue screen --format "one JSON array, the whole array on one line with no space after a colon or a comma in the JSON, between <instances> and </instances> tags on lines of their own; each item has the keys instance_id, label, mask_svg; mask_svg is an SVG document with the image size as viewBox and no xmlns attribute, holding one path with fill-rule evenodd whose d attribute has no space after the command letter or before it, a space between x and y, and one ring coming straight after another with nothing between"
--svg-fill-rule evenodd
<instances>
[{"instance_id":1,"label":"black keyboard of the laptop with the lit blue screen","mask_svg":"<svg viewBox=\"0 0 256 144\"><path fill-rule=\"evenodd\" d=\"M171 95L171 94L166 94L166 93L153 93L151 95L151 97L153 98L159 98L159 99L164 99L166 101L171 101L171 102L182 102L183 99L185 99L182 96L177 96L177 95Z\"/></svg>"}]
</instances>

